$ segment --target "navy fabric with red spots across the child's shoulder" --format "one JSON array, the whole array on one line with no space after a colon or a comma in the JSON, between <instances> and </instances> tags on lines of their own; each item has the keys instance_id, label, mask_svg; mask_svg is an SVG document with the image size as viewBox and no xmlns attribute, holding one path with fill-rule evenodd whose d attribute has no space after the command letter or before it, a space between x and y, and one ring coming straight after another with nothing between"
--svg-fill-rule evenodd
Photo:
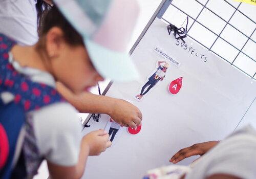
<instances>
[{"instance_id":1,"label":"navy fabric with red spots across the child's shoulder","mask_svg":"<svg viewBox=\"0 0 256 179\"><path fill-rule=\"evenodd\" d=\"M14 102L22 105L26 112L55 101L64 101L53 87L44 83L33 82L13 68L9 62L9 51L14 44L15 42L0 34L0 93L10 92L13 94L15 96Z\"/></svg>"}]
</instances>

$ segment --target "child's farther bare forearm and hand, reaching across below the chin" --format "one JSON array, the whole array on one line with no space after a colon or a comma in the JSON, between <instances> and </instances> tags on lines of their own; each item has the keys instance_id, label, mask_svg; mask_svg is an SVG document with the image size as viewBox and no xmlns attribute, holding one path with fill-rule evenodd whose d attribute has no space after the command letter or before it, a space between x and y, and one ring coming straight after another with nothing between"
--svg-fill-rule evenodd
<instances>
[{"instance_id":1,"label":"child's farther bare forearm and hand, reaching across below the chin","mask_svg":"<svg viewBox=\"0 0 256 179\"><path fill-rule=\"evenodd\" d=\"M74 95L66 86L57 82L58 92L65 97L81 113L101 113L111 116L111 118L123 125L135 128L140 125L142 114L138 107L122 99L108 96L82 93Z\"/></svg>"}]
</instances>

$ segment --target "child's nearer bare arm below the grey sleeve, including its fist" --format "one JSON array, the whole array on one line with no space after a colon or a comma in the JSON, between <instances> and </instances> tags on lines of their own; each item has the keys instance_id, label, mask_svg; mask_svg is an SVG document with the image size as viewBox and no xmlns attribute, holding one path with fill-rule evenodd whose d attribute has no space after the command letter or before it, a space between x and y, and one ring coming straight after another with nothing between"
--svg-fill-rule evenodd
<instances>
[{"instance_id":1,"label":"child's nearer bare arm below the grey sleeve, including its fist","mask_svg":"<svg viewBox=\"0 0 256 179\"><path fill-rule=\"evenodd\" d=\"M51 178L81 178L88 156L99 155L111 144L109 134L102 129L88 133L82 138L79 159L76 165L61 166L47 161Z\"/></svg>"}]
</instances>

